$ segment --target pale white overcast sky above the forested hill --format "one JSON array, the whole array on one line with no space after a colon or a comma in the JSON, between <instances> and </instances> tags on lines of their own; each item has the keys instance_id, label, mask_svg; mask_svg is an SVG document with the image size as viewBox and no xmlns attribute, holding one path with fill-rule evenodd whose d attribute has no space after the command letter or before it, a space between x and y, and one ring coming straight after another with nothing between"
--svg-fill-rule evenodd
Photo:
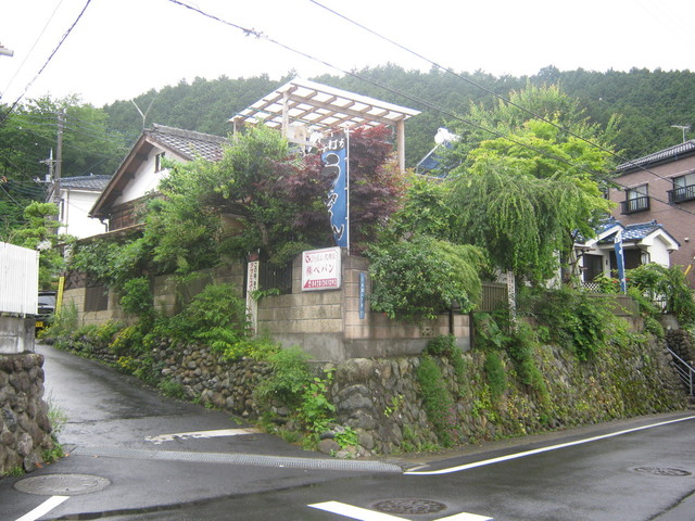
<instances>
[{"instance_id":1,"label":"pale white overcast sky above the forested hill","mask_svg":"<svg viewBox=\"0 0 695 521\"><path fill-rule=\"evenodd\" d=\"M316 0L403 47L457 72L535 74L542 67L591 71L693 69L693 0ZM79 94L102 106L195 77L289 71L340 74L388 62L427 72L431 64L311 0L91 0L43 72L39 71L87 0L0 0L0 102ZM28 88L27 88L28 87Z\"/></svg>"}]
</instances>

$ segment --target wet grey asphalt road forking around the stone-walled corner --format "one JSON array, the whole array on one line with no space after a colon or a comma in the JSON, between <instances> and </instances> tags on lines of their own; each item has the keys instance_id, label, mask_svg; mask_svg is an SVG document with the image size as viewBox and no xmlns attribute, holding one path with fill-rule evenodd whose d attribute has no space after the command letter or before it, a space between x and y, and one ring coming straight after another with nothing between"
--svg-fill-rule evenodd
<instances>
[{"instance_id":1,"label":"wet grey asphalt road forking around the stone-walled corner","mask_svg":"<svg viewBox=\"0 0 695 521\"><path fill-rule=\"evenodd\" d=\"M1 479L0 520L695 520L695 411L337 461L93 361L38 351L47 396L68 417L60 437L71 454ZM23 492L33 479L38 490ZM52 490L51 479L63 481Z\"/></svg>"}]
</instances>

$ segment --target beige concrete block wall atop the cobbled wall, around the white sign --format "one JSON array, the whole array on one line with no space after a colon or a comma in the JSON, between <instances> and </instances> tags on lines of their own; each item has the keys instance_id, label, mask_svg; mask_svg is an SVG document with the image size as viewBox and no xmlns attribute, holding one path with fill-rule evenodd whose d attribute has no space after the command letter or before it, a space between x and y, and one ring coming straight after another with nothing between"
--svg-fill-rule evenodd
<instances>
[{"instance_id":1,"label":"beige concrete block wall atop the cobbled wall, around the white sign","mask_svg":"<svg viewBox=\"0 0 695 521\"><path fill-rule=\"evenodd\" d=\"M294 259L292 293L264 296L258 302L256 331L268 333L282 345L298 345L319 361L342 361L349 358L418 355L427 342L438 335L453 333L460 347L470 345L467 315L442 315L435 320L407 323L391 320L369 310L368 295L371 282L369 262L364 257L342 253L342 287L338 290L302 291L301 256ZM202 290L205 283L231 282L245 285L244 266L229 262L222 267L205 270L189 285L188 297ZM361 303L359 277L366 278L364 301ZM152 282L154 305L167 314L181 307L180 292L173 276L155 277ZM186 293L186 292L185 292ZM85 288L67 290L63 304L75 303L81 325L103 323L109 320L127 322L121 312L117 295L109 294L109 309L85 313ZM361 315L364 305L364 316Z\"/></svg>"}]
</instances>

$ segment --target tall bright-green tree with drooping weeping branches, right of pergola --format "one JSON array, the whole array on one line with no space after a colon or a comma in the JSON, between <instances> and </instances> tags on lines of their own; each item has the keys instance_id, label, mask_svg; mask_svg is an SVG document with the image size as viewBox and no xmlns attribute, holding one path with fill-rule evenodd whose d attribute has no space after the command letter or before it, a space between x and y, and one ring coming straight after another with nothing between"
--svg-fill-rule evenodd
<instances>
[{"instance_id":1,"label":"tall bright-green tree with drooping weeping branches, right of pergola","mask_svg":"<svg viewBox=\"0 0 695 521\"><path fill-rule=\"evenodd\" d=\"M505 137L472 150L460 145L465 162L451 176L454 236L484 247L497 267L541 282L557 272L558 254L570 254L574 233L592 237L593 221L608 212L599 180L611 157L604 136L580 112L572 118L556 112L572 106L556 88L530 88L516 98L553 120L525 118L507 103L477 111ZM604 144L596 148L583 136Z\"/></svg>"}]
</instances>

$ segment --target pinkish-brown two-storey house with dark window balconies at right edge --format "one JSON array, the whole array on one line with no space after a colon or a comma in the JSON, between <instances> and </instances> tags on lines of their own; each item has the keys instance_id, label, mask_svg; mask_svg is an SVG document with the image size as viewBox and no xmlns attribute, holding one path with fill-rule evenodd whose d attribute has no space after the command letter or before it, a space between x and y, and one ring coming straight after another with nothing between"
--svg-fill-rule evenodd
<instances>
[{"instance_id":1,"label":"pinkish-brown two-storey house with dark window balconies at right edge","mask_svg":"<svg viewBox=\"0 0 695 521\"><path fill-rule=\"evenodd\" d=\"M612 216L626 227L658 220L680 244L670 264L688 270L695 288L695 269L688 269L695 255L695 140L619 165L615 181L608 191L617 203Z\"/></svg>"}]
</instances>

